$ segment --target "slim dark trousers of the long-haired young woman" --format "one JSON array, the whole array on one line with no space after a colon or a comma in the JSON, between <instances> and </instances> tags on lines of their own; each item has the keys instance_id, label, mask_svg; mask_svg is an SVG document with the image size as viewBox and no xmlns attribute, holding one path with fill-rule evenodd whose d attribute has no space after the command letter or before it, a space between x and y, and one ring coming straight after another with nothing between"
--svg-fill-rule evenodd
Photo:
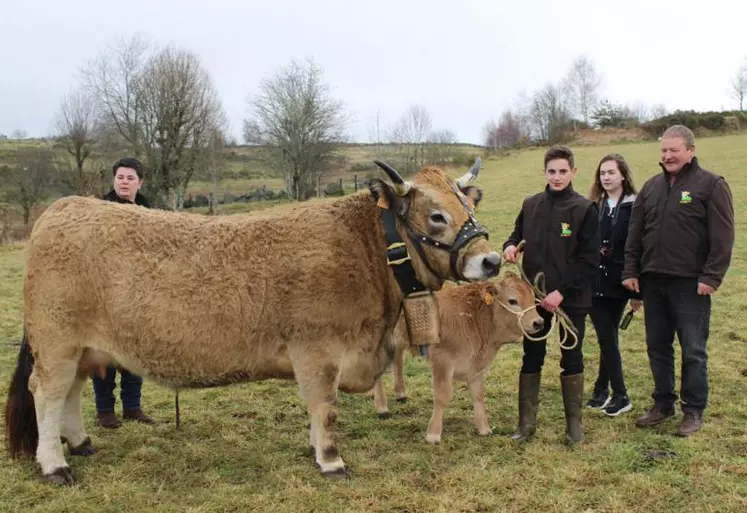
<instances>
[{"instance_id":1,"label":"slim dark trousers of the long-haired young woman","mask_svg":"<svg viewBox=\"0 0 747 513\"><path fill-rule=\"evenodd\" d=\"M620 358L619 326L627 299L595 297L591 305L591 322L599 341L599 375L594 383L594 394L609 391L626 395L625 379Z\"/></svg>"}]
</instances>

